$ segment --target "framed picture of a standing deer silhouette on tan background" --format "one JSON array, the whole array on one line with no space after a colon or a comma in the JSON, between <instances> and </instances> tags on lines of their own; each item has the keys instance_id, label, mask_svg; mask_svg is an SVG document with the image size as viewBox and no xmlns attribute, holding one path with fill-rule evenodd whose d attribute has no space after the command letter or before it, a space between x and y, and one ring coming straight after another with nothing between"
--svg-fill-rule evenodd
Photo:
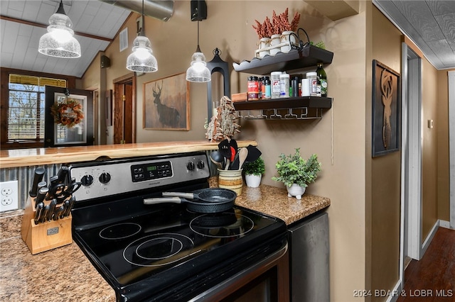
<instances>
[{"instance_id":1,"label":"framed picture of a standing deer silhouette on tan background","mask_svg":"<svg viewBox=\"0 0 455 302\"><path fill-rule=\"evenodd\" d=\"M189 84L185 74L144 83L144 129L190 130Z\"/></svg>"}]
</instances>

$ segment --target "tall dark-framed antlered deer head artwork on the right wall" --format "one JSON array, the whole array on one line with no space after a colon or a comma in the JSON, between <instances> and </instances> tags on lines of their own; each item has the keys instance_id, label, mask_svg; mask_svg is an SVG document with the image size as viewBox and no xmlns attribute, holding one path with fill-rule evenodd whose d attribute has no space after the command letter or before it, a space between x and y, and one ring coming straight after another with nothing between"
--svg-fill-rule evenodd
<instances>
[{"instance_id":1,"label":"tall dark-framed antlered deer head artwork on the right wall","mask_svg":"<svg viewBox=\"0 0 455 302\"><path fill-rule=\"evenodd\" d=\"M400 73L373 60L372 157L400 150Z\"/></svg>"}]
</instances>

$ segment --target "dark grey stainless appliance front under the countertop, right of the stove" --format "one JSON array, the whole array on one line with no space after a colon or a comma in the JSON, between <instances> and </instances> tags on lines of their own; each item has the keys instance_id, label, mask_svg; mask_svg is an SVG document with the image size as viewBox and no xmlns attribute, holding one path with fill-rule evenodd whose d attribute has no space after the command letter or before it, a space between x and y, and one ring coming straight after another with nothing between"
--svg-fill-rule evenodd
<instances>
[{"instance_id":1,"label":"dark grey stainless appliance front under the countertop, right of the stove","mask_svg":"<svg viewBox=\"0 0 455 302\"><path fill-rule=\"evenodd\" d=\"M288 235L291 301L330 301L328 214L304 218Z\"/></svg>"}]
</instances>

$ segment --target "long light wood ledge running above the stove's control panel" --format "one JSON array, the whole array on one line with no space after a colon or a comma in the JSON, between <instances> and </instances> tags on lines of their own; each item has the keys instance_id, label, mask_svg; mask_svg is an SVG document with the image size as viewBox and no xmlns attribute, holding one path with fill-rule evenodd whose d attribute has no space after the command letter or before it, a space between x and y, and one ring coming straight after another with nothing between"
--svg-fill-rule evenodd
<instances>
[{"instance_id":1,"label":"long light wood ledge running above the stove's control panel","mask_svg":"<svg viewBox=\"0 0 455 302\"><path fill-rule=\"evenodd\" d=\"M255 140L237 140L238 147L257 146ZM144 142L122 145L96 145L84 147L50 147L0 151L0 168L64 164L110 158L141 157L196 151L217 150L218 142L206 140L177 142Z\"/></svg>"}]
</instances>

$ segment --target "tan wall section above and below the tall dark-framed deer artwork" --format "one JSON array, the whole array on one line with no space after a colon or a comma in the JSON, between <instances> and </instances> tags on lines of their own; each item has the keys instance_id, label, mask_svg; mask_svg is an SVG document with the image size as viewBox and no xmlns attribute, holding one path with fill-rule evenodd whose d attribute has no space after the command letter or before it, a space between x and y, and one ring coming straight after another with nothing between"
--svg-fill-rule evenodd
<instances>
[{"instance_id":1,"label":"tan wall section above and below the tall dark-framed deer artwork","mask_svg":"<svg viewBox=\"0 0 455 302\"><path fill-rule=\"evenodd\" d=\"M373 6L372 58L401 73L402 35L378 9ZM368 60L370 64L371 60ZM372 70L373 72L373 70ZM371 80L370 80L371 81ZM367 83L369 84L370 81ZM371 101L371 94L367 101ZM371 108L367 111L367 135L371 141ZM370 211L366 220L370 226L367 231L367 245L370 244L370 289L393 289L399 278L400 260L400 170L401 152L392 152L380 157L371 157L371 147L365 153L371 164ZM368 202L368 199L367 199ZM367 285L367 288L369 286ZM373 295L372 301L384 298Z\"/></svg>"}]
</instances>

